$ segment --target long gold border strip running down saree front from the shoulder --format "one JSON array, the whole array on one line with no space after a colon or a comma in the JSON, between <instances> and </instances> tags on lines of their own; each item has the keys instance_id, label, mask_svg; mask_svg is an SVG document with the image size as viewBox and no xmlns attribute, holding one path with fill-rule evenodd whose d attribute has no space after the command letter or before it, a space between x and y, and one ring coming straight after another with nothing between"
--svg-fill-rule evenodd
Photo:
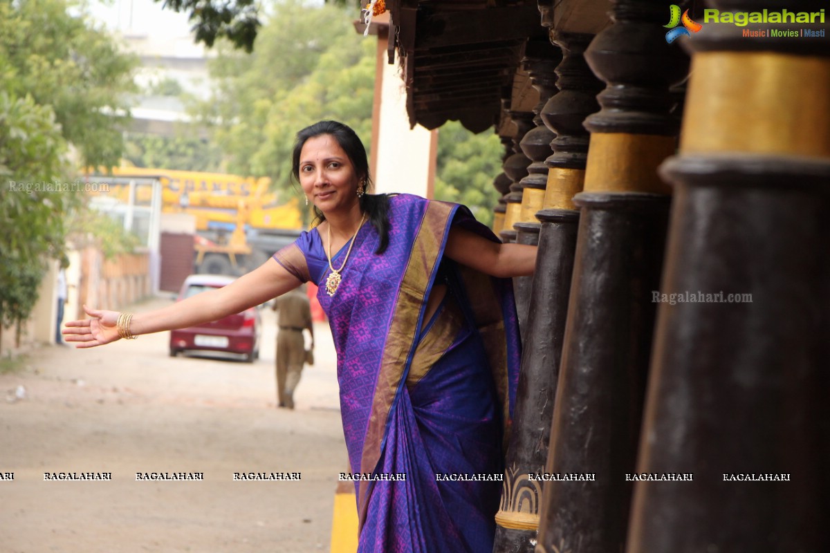
<instances>
[{"instance_id":1,"label":"long gold border strip running down saree front from the shoulder","mask_svg":"<svg viewBox=\"0 0 830 553\"><path fill-rule=\"evenodd\" d=\"M386 434L389 410L401 386L406 361L413 352L413 342L420 330L418 318L424 307L427 284L435 269L439 252L454 213L451 204L430 201L424 211L413 248L404 271L398 298L393 307L383 347L378 381L375 383L369 427L364 438L360 472L372 473L380 459L381 444ZM363 529L369 508L369 482L361 481L358 487L359 531Z\"/></svg>"}]
</instances>

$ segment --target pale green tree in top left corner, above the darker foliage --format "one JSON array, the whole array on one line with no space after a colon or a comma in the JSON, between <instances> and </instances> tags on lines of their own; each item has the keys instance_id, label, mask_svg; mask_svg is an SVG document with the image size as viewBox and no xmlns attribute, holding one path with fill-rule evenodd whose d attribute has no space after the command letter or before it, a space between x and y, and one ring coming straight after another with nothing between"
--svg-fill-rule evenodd
<instances>
[{"instance_id":1,"label":"pale green tree in top left corner, above the darker foliage","mask_svg":"<svg viewBox=\"0 0 830 553\"><path fill-rule=\"evenodd\" d=\"M86 165L118 164L136 59L65 0L0 2L0 87L51 105Z\"/></svg>"}]
</instances>

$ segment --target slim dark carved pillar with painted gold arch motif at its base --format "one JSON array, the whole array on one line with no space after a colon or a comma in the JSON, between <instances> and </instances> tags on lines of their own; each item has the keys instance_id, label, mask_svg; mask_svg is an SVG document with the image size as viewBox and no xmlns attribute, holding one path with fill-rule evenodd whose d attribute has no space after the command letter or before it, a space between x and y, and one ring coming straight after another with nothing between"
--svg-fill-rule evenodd
<instances>
[{"instance_id":1,"label":"slim dark carved pillar with painted gold arch motif at its base","mask_svg":"<svg viewBox=\"0 0 830 553\"><path fill-rule=\"evenodd\" d=\"M583 58L590 36L554 36L554 41L564 52L556 68L560 91L550 95L540 112L551 131L547 136L555 136L550 143L554 153L545 162L549 172L543 209L535 214L541 221L535 229L539 253L530 291L513 437L496 516L496 553L532 553L536 544L543 482L528 475L542 473L548 456L579 222L571 197L582 189L588 153L588 132L582 121L599 109L595 95L602 89ZM525 188L525 194L528 191ZM521 236L525 226L517 226Z\"/></svg>"}]
</instances>

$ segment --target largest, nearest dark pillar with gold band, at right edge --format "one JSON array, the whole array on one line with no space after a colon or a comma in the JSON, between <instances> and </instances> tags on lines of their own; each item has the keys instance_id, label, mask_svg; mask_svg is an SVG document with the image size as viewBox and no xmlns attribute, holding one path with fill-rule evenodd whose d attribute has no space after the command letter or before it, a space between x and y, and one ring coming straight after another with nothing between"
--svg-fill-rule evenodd
<instances>
[{"instance_id":1,"label":"largest, nearest dark pillar with gold band, at right edge","mask_svg":"<svg viewBox=\"0 0 830 553\"><path fill-rule=\"evenodd\" d=\"M830 42L763 27L686 41L660 292L695 298L660 304L637 471L694 480L636 484L630 553L830 551Z\"/></svg>"}]
</instances>

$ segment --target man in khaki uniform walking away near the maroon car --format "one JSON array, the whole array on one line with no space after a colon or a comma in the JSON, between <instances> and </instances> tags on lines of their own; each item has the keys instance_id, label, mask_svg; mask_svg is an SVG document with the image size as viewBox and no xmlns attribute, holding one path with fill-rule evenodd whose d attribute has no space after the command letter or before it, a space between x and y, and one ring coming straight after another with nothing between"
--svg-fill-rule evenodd
<instances>
[{"instance_id":1,"label":"man in khaki uniform walking away near the maroon car","mask_svg":"<svg viewBox=\"0 0 830 553\"><path fill-rule=\"evenodd\" d=\"M294 390L300 383L300 372L305 363L303 330L311 335L314 349L314 326L305 285L284 293L274 301L277 312L276 333L276 405L294 409Z\"/></svg>"}]
</instances>

